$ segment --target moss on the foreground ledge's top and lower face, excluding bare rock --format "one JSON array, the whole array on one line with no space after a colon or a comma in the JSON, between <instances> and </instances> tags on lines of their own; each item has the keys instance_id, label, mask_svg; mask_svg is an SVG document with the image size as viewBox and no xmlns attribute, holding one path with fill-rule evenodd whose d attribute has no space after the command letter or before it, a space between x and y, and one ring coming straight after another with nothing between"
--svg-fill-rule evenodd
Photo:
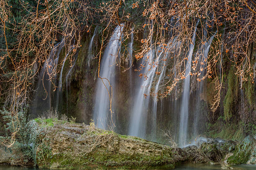
<instances>
[{"instance_id":1,"label":"moss on the foreground ledge's top and lower face, excluding bare rock","mask_svg":"<svg viewBox=\"0 0 256 170\"><path fill-rule=\"evenodd\" d=\"M55 119L47 119L42 120L40 118L37 118L35 120L41 127L46 127L49 123L58 124L62 123L61 120L55 120ZM72 128L76 129L77 132L81 134L81 137L79 140L71 137L69 138L69 133L62 133L62 129L59 128L49 128L49 130L52 130L52 133L50 131L47 131L46 136L41 136L41 145L38 147L37 150L37 163L38 166L41 168L50 168L50 169L67 169L67 170L90 170L90 169L109 169L109 168L118 168L118 169L164 169L164 168L173 168L174 167L174 157L173 154L175 151L173 151L171 148L169 148L166 151L163 151L160 155L154 155L154 154L143 154L143 153L131 153L129 154L122 154L119 152L116 152L116 150L111 150L109 148L109 144L112 145L112 142L125 140L131 142L142 142L142 143L151 143L149 141L143 140L141 138L133 137L133 136L125 136L125 135L119 135L117 133L114 133L112 131L108 130L101 130L97 129L95 127L87 127L88 129L84 129L81 126L76 126L76 124L70 124L69 122L65 122L65 125L71 126ZM59 126L55 126L59 127ZM46 127L47 128L47 127ZM78 130L77 128L80 128ZM61 133L59 133L61 131ZM62 138L60 138L58 141L51 140L51 138L54 138L54 135L59 136L61 134L64 135ZM50 137L51 136L51 137ZM104 138L110 138L109 141L102 145L97 145L95 148L93 148L92 151L89 151L88 153L85 152L86 148L79 148L81 150L80 155L77 153L76 148L78 145L84 145L86 143L86 140L83 140L83 142L80 139L86 139L86 138L95 138L95 139L104 139ZM66 139L68 141L66 141ZM115 140L118 139L118 140ZM137 140L137 141L134 141ZM61 146L58 146L56 142L63 142ZM77 145L74 145L74 143L77 143ZM116 145L116 144L114 144ZM159 144L160 145L160 144ZM150 146L150 145L149 145ZM52 147L52 148L51 148ZM60 147L60 148L59 148ZM62 147L65 148L62 150ZM110 149L110 150L109 150Z\"/></svg>"}]
</instances>

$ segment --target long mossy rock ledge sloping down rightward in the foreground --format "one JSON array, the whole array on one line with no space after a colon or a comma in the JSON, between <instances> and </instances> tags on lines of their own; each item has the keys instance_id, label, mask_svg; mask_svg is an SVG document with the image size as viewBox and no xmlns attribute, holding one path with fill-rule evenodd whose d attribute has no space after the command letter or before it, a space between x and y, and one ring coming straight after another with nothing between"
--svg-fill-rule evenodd
<instances>
[{"instance_id":1,"label":"long mossy rock ledge sloping down rightward in the foreground","mask_svg":"<svg viewBox=\"0 0 256 170\"><path fill-rule=\"evenodd\" d=\"M50 169L166 169L187 160L182 149L119 135L93 125L36 119L37 165Z\"/></svg>"}]
</instances>

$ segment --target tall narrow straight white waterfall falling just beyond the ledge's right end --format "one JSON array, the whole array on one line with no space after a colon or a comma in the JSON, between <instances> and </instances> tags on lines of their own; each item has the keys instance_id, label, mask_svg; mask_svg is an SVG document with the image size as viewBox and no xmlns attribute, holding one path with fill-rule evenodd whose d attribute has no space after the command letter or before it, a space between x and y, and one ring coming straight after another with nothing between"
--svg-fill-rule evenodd
<instances>
[{"instance_id":1,"label":"tall narrow straight white waterfall falling just beyond the ledge's right end","mask_svg":"<svg viewBox=\"0 0 256 170\"><path fill-rule=\"evenodd\" d=\"M199 20L198 20L199 22ZM197 22L197 24L198 24ZM195 46L195 35L197 31L197 24L195 26L195 31L193 33L192 42L189 44L189 52L187 55L187 64L185 67L185 80L183 83L182 92L182 103L180 110L180 123L179 123L179 145L186 143L187 140L187 123L189 115L189 94L190 94L190 70L191 70L191 60L192 54Z\"/></svg>"}]
</instances>

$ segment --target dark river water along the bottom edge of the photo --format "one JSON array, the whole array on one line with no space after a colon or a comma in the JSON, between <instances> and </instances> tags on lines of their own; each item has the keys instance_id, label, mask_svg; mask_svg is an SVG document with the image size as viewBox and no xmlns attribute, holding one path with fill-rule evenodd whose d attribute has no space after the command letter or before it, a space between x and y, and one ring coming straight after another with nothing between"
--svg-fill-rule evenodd
<instances>
[{"instance_id":1,"label":"dark river water along the bottom edge of the photo","mask_svg":"<svg viewBox=\"0 0 256 170\"><path fill-rule=\"evenodd\" d=\"M256 165L234 165L232 166L233 170L256 170ZM39 169L39 168L24 168L24 167L12 167L0 165L0 170L47 170L47 169ZM182 164L174 168L174 170L223 170L220 165L209 165L203 163L196 164Z\"/></svg>"}]
</instances>

